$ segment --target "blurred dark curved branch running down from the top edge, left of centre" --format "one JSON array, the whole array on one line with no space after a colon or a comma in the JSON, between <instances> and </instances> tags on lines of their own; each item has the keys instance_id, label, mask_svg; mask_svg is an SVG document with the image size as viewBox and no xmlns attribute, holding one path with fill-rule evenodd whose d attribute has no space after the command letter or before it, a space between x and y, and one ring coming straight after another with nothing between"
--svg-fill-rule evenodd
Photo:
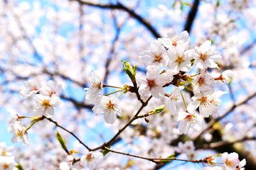
<instances>
[{"instance_id":1,"label":"blurred dark curved branch running down from the top edge, left of centre","mask_svg":"<svg viewBox=\"0 0 256 170\"><path fill-rule=\"evenodd\" d=\"M135 13L132 9L127 8L126 6L124 6L121 3L117 3L117 4L96 4L96 3L92 3L92 2L88 2L88 1L82 1L82 0L70 0L70 1L78 1L80 4L85 4L87 6L95 6L95 7L98 7L98 8L118 9L118 10L126 11L127 13L129 13L130 16L137 19L137 21L139 21L139 23L142 23L142 25L145 26L154 35L155 38L161 38L161 35L156 32L156 30L153 28L153 26L151 26L150 23L148 23L146 20L144 20L144 18L142 18L142 16L139 16L139 14Z\"/></svg>"}]
</instances>

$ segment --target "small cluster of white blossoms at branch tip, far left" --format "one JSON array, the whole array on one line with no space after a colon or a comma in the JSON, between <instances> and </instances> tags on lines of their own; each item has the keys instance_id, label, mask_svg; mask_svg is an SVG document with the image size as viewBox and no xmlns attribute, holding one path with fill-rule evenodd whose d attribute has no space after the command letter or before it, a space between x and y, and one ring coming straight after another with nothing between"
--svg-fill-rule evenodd
<instances>
[{"instance_id":1,"label":"small cluster of white blossoms at branch tip, far left","mask_svg":"<svg viewBox=\"0 0 256 170\"><path fill-rule=\"evenodd\" d=\"M38 85L33 80L29 79L25 81L23 89L20 94L23 98L33 97L36 106L33 109L35 117L33 117L32 124L27 128L21 123L21 118L25 116L19 116L16 111L9 109L11 113L11 123L8 127L10 133L14 134L11 138L11 142L21 142L23 145L29 144L29 137L27 130L38 121L38 116L45 115L46 118L51 118L54 115L54 108L60 105L60 92L61 85L55 84L53 81L48 81L44 84Z\"/></svg>"}]
</instances>

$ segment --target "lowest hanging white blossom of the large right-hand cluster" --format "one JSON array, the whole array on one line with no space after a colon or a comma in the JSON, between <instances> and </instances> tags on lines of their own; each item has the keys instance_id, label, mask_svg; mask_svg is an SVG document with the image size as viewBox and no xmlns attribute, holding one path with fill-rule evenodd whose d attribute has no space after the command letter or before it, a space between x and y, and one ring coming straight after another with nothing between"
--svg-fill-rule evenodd
<instances>
[{"instance_id":1,"label":"lowest hanging white blossom of the large right-hand cluster","mask_svg":"<svg viewBox=\"0 0 256 170\"><path fill-rule=\"evenodd\" d=\"M179 111L177 121L181 121L178 127L180 134L186 134L190 128L196 132L201 132L203 129L203 120L196 116L190 108L187 111Z\"/></svg>"}]
</instances>

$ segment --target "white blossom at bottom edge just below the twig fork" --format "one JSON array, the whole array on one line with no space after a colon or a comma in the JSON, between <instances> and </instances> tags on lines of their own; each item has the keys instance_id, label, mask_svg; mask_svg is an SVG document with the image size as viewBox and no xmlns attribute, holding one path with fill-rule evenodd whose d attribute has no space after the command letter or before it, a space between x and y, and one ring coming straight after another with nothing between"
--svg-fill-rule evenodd
<instances>
[{"instance_id":1,"label":"white blossom at bottom edge just below the twig fork","mask_svg":"<svg viewBox=\"0 0 256 170\"><path fill-rule=\"evenodd\" d=\"M103 154L101 152L88 152L82 155L80 159L80 164L82 166L87 166L90 170L94 170L97 164L103 159Z\"/></svg>"}]
</instances>

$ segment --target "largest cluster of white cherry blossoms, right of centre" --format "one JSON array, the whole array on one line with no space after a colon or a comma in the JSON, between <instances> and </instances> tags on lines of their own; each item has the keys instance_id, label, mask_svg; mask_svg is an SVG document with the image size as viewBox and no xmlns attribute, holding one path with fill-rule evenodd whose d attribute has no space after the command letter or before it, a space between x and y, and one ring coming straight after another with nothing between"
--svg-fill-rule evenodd
<instances>
[{"instance_id":1,"label":"largest cluster of white cherry blossoms, right of centre","mask_svg":"<svg viewBox=\"0 0 256 170\"><path fill-rule=\"evenodd\" d=\"M203 119L212 115L213 109L220 104L218 99L228 91L216 91L213 86L216 81L228 83L228 77L232 71L223 72L220 77L213 78L208 68L218 69L218 60L221 59L220 52L210 49L211 42L207 40L200 47L188 50L188 33L183 31L177 34L170 29L167 38L159 38L151 43L151 49L139 55L140 60L146 64L146 77L137 79L139 94L143 99L152 95L155 98L169 96L176 121L180 122L179 132L187 133L190 128L196 132L203 129ZM169 69L166 70L168 66ZM194 72L201 71L195 75L186 75L194 67ZM163 71L164 70L164 71ZM174 85L171 94L166 94L164 86ZM193 89L186 84L193 84ZM185 103L182 95L184 88L193 91L192 101ZM182 98L182 99L181 99ZM183 100L184 106L180 106ZM184 108L185 107L185 108ZM199 114L196 109L199 107Z\"/></svg>"}]
</instances>

